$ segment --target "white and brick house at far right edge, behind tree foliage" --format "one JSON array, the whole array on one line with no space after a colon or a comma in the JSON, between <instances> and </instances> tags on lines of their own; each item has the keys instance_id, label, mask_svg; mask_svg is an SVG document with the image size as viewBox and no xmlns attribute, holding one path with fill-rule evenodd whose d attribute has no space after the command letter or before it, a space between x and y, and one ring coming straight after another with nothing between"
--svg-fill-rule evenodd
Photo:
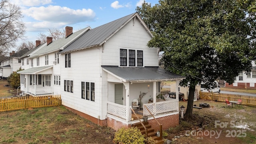
<instances>
[{"instance_id":1,"label":"white and brick house at far right edge, behind tree foliage","mask_svg":"<svg viewBox=\"0 0 256 144\"><path fill-rule=\"evenodd\" d=\"M256 64L252 61L252 70L250 75L246 75L245 72L239 73L239 76L235 78L233 84L225 82L225 87L232 88L245 88L245 89L256 89Z\"/></svg>"}]
</instances>

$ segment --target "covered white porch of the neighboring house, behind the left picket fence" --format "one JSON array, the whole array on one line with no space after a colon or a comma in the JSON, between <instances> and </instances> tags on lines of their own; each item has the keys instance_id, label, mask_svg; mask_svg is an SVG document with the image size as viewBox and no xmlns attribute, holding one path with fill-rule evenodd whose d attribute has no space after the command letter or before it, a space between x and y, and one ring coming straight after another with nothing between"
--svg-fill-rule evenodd
<instances>
[{"instance_id":1,"label":"covered white porch of the neighboring house, behind the left picket fence","mask_svg":"<svg viewBox=\"0 0 256 144\"><path fill-rule=\"evenodd\" d=\"M53 94L52 66L29 68L18 73L22 92L33 96Z\"/></svg>"}]
</instances>

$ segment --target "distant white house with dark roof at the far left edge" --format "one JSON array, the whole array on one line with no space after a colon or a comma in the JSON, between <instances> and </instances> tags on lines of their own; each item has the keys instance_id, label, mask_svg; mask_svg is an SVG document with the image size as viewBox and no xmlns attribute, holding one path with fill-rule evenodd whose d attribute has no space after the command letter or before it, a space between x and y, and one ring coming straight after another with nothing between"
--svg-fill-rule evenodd
<instances>
[{"instance_id":1,"label":"distant white house with dark roof at the far left edge","mask_svg":"<svg viewBox=\"0 0 256 144\"><path fill-rule=\"evenodd\" d=\"M24 48L16 53L15 51L12 51L8 58L2 60L0 66L0 76L2 76L1 78L6 79L12 72L18 70L21 67L21 60L19 57L28 51L29 50L27 48Z\"/></svg>"}]
</instances>

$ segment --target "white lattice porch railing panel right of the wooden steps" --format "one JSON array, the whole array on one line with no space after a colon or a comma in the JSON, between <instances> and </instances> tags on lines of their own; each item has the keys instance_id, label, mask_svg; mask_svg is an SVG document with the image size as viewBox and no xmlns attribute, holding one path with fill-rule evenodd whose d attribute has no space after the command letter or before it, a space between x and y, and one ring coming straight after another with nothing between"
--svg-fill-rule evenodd
<instances>
[{"instance_id":1,"label":"white lattice porch railing panel right of the wooden steps","mask_svg":"<svg viewBox=\"0 0 256 144\"><path fill-rule=\"evenodd\" d=\"M156 102L156 104L155 103L144 104L144 106L146 106L152 114L160 114L164 112L171 112L174 110L178 111L179 110L178 103L179 101L176 99L169 99L163 102ZM155 105L156 105L156 108L155 108ZM146 110L146 108L143 108L144 116L150 115L148 110Z\"/></svg>"}]
</instances>

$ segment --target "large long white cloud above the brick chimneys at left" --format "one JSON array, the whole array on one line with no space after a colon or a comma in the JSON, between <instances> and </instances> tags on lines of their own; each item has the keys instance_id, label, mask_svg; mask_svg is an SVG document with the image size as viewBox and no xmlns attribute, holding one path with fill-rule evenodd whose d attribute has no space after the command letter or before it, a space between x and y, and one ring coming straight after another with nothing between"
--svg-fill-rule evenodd
<instances>
[{"instance_id":1,"label":"large long white cloud above the brick chimneys at left","mask_svg":"<svg viewBox=\"0 0 256 144\"><path fill-rule=\"evenodd\" d=\"M50 26L58 28L66 24L93 21L96 15L91 9L73 10L67 7L52 5L47 7L31 7L22 10L22 14L38 21L27 23L34 28L49 28Z\"/></svg>"}]
</instances>

